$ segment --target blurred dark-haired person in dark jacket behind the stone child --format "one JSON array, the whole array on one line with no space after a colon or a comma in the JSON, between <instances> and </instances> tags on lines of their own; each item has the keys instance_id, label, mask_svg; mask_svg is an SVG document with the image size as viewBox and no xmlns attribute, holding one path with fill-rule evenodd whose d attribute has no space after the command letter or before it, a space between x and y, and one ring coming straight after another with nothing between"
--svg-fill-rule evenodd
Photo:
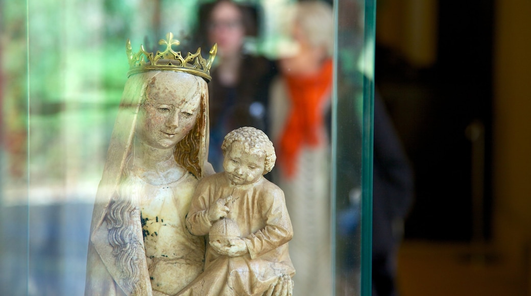
<instances>
[{"instance_id":1,"label":"blurred dark-haired person in dark jacket behind the stone child","mask_svg":"<svg viewBox=\"0 0 531 296\"><path fill-rule=\"evenodd\" d=\"M270 60L245 53L244 39L256 36L257 9L221 0L200 8L200 31L209 46L218 44L217 65L210 74L209 161L223 170L221 143L227 133L252 126L267 133L267 106L270 82L276 67Z\"/></svg>"}]
</instances>

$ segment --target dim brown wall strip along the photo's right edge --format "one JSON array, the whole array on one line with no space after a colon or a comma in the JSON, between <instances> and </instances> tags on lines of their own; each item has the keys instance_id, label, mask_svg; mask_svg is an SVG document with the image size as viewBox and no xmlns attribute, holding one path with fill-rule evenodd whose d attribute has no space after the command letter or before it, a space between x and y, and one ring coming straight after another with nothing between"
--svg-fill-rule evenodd
<instances>
[{"instance_id":1,"label":"dim brown wall strip along the photo's right edge","mask_svg":"<svg viewBox=\"0 0 531 296\"><path fill-rule=\"evenodd\" d=\"M495 28L494 234L531 295L531 1L496 1Z\"/></svg>"}]
</instances>

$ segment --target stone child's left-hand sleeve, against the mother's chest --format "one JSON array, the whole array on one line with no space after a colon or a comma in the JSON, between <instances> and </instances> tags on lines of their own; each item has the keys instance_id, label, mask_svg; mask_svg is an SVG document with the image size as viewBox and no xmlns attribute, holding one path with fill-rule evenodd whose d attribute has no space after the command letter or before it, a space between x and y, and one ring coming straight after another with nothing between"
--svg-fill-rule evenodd
<instances>
[{"instance_id":1,"label":"stone child's left-hand sleeve, against the mother's chest","mask_svg":"<svg viewBox=\"0 0 531 296\"><path fill-rule=\"evenodd\" d=\"M186 228L195 236L208 234L210 227L212 227L207 214L210 206L209 188L207 178L199 182L192 197L190 210L186 215Z\"/></svg>"}]
</instances>

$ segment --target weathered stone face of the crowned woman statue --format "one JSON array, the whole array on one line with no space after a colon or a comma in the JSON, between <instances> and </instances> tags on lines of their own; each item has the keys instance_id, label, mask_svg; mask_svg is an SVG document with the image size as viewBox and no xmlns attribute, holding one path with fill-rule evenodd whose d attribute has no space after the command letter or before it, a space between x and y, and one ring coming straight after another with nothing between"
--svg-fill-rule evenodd
<instances>
[{"instance_id":1,"label":"weathered stone face of the crowned woman statue","mask_svg":"<svg viewBox=\"0 0 531 296\"><path fill-rule=\"evenodd\" d=\"M201 102L201 83L192 74L162 72L153 77L136 124L138 140L169 149L192 130Z\"/></svg>"}]
</instances>

